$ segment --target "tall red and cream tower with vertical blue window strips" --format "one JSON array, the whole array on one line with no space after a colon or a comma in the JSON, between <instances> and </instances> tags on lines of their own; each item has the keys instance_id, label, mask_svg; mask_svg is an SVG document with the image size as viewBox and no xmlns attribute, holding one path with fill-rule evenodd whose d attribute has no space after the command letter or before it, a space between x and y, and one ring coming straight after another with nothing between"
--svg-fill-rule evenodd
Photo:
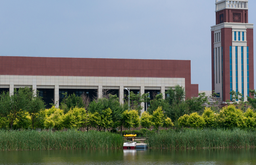
<instances>
[{"instance_id":1,"label":"tall red and cream tower with vertical blue window strips","mask_svg":"<svg viewBox=\"0 0 256 165\"><path fill-rule=\"evenodd\" d=\"M216 25L211 27L212 90L222 101L231 91L245 101L254 89L253 24L248 23L248 0L216 0Z\"/></svg>"}]
</instances>

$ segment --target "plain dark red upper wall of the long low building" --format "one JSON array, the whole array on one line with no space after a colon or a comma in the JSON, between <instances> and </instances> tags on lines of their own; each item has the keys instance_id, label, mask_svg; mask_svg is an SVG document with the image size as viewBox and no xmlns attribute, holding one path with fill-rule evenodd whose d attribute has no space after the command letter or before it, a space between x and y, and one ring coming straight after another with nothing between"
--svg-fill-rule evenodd
<instances>
[{"instance_id":1,"label":"plain dark red upper wall of the long low building","mask_svg":"<svg viewBox=\"0 0 256 165\"><path fill-rule=\"evenodd\" d=\"M9 75L185 78L186 96L191 96L190 60L0 56L0 62L0 74Z\"/></svg>"}]
</instances>

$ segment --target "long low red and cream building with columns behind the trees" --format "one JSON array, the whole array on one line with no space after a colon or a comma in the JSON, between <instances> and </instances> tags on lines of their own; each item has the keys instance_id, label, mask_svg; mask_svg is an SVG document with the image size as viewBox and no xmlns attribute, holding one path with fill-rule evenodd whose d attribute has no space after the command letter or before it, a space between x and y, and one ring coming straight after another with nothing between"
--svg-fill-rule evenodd
<instances>
[{"instance_id":1,"label":"long low red and cream building with columns behind the trees","mask_svg":"<svg viewBox=\"0 0 256 165\"><path fill-rule=\"evenodd\" d=\"M150 92L151 98L153 93L165 97L165 90L175 85L185 88L187 98L198 94L198 85L191 85L190 60L0 56L0 62L0 92L32 86L48 106L60 103L65 92L86 93L93 99L107 90L117 94L120 102L128 94L125 88ZM197 88L195 93L191 86Z\"/></svg>"}]
</instances>

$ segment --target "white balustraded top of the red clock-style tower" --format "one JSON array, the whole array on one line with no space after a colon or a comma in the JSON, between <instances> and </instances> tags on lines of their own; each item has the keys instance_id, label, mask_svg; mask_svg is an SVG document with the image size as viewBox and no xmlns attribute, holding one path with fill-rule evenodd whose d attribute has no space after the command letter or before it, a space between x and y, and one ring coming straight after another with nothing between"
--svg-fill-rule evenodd
<instances>
[{"instance_id":1,"label":"white balustraded top of the red clock-style tower","mask_svg":"<svg viewBox=\"0 0 256 165\"><path fill-rule=\"evenodd\" d=\"M216 10L220 11L223 9L245 9L248 10L248 0L240 0L240 1L228 1L228 0L216 0Z\"/></svg>"}]
</instances>

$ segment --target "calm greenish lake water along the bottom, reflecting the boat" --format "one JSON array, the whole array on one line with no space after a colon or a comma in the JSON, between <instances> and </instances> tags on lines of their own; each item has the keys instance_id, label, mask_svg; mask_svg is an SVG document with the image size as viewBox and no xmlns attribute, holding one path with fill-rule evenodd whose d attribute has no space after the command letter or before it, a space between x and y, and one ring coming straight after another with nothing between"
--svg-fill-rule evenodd
<instances>
[{"instance_id":1,"label":"calm greenish lake water along the bottom, reflecting the boat","mask_svg":"<svg viewBox=\"0 0 256 165\"><path fill-rule=\"evenodd\" d=\"M39 150L0 151L0 164L53 164L53 165L165 165L165 164L256 164L256 149L79 149L79 150Z\"/></svg>"}]
</instances>

